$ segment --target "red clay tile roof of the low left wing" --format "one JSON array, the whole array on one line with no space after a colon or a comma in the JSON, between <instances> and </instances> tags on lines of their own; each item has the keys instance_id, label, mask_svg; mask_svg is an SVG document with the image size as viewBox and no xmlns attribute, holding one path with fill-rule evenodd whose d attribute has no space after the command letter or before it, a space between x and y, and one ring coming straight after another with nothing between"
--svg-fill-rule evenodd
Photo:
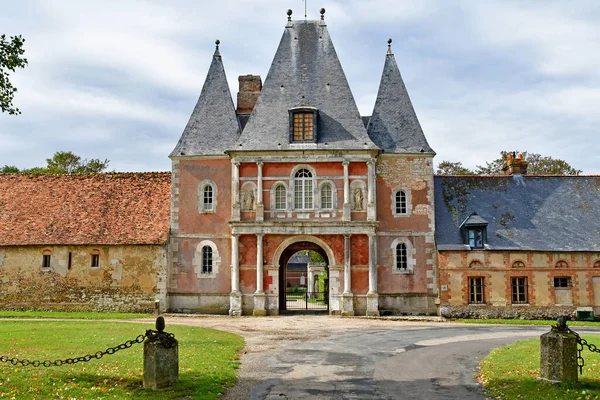
<instances>
[{"instance_id":1,"label":"red clay tile roof of the low left wing","mask_svg":"<svg viewBox=\"0 0 600 400\"><path fill-rule=\"evenodd\" d=\"M164 244L169 172L0 174L0 246Z\"/></svg>"}]
</instances>

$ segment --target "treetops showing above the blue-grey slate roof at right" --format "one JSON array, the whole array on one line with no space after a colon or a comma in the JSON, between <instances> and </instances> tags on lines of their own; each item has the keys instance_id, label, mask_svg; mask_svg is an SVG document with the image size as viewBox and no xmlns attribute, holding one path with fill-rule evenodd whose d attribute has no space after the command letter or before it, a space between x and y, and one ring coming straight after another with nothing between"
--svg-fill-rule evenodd
<instances>
[{"instance_id":1,"label":"treetops showing above the blue-grey slate roof at right","mask_svg":"<svg viewBox=\"0 0 600 400\"><path fill-rule=\"evenodd\" d=\"M513 152L501 151L500 158L488 161L485 165L478 165L474 171L462 166L460 162L442 161L438 165L438 175L503 175L504 166L508 160L508 155ZM515 152L519 154L519 151ZM523 159L528 162L527 175L579 175L581 170L573 168L565 160L542 156L538 153L520 153Z\"/></svg>"}]
</instances>

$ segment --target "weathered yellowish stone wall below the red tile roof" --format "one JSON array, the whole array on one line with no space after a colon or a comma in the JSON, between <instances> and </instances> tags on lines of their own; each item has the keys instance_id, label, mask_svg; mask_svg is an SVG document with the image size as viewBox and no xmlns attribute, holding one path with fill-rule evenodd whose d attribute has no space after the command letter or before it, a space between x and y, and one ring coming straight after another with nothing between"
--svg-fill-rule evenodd
<instances>
[{"instance_id":1,"label":"weathered yellowish stone wall below the red tile roof","mask_svg":"<svg viewBox=\"0 0 600 400\"><path fill-rule=\"evenodd\" d=\"M44 254L50 267L43 268ZM92 254L99 266L91 266ZM69 262L70 260L70 262ZM152 312L166 295L164 246L0 248L0 309Z\"/></svg>"}]
</instances>

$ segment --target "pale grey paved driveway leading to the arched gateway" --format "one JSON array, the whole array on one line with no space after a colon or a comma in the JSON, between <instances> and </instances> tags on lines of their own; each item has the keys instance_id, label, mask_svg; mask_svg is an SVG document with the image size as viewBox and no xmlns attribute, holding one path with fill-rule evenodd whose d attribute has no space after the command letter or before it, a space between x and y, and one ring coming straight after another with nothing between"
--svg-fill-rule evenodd
<instances>
[{"instance_id":1,"label":"pale grey paved driveway leading to the arched gateway","mask_svg":"<svg viewBox=\"0 0 600 400\"><path fill-rule=\"evenodd\" d=\"M549 331L331 317L200 324L246 336L239 383L224 400L485 399L473 378L479 360L495 347Z\"/></svg>"}]
</instances>

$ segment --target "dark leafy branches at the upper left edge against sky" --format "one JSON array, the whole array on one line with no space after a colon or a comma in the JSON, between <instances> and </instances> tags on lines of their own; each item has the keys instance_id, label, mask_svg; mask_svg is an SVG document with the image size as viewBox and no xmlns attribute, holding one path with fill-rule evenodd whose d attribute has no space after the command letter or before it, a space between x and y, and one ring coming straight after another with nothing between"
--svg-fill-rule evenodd
<instances>
[{"instance_id":1,"label":"dark leafy branches at the upper left edge against sky","mask_svg":"<svg viewBox=\"0 0 600 400\"><path fill-rule=\"evenodd\" d=\"M0 36L0 110L10 115L21 114L21 111L13 106L13 99L17 88L10 83L10 72L16 68L25 68L27 59L23 57L25 39L21 36L11 36L6 40L6 35Z\"/></svg>"}]
</instances>

